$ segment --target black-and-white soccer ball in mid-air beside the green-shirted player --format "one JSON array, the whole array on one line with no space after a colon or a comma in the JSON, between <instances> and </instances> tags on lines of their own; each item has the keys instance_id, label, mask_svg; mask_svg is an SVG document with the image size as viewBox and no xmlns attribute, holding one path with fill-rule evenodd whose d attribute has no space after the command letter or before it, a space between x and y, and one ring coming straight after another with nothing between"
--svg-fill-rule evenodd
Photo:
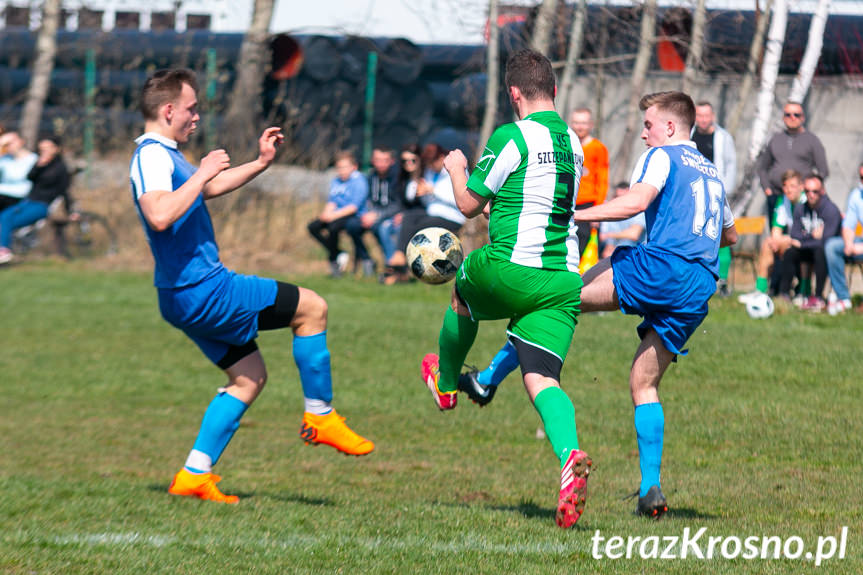
<instances>
[{"instance_id":1,"label":"black-and-white soccer ball in mid-air beside the green-shirted player","mask_svg":"<svg viewBox=\"0 0 863 575\"><path fill-rule=\"evenodd\" d=\"M464 261L458 236L444 228L418 231L408 242L405 255L411 272L427 284L448 282Z\"/></svg>"}]
</instances>

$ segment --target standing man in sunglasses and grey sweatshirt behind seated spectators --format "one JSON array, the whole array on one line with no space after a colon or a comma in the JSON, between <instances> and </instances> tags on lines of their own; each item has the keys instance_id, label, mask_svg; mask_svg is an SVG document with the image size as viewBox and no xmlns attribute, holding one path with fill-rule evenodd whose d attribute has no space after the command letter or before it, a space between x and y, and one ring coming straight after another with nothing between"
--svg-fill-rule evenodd
<instances>
[{"instance_id":1,"label":"standing man in sunglasses and grey sweatshirt behind seated spectators","mask_svg":"<svg viewBox=\"0 0 863 575\"><path fill-rule=\"evenodd\" d=\"M786 102L782 121L785 130L773 134L758 157L758 178L767 196L767 217L773 214L781 195L782 174L796 170L801 174L817 174L821 180L829 175L827 156L818 136L804 127L806 115L799 102Z\"/></svg>"}]
</instances>

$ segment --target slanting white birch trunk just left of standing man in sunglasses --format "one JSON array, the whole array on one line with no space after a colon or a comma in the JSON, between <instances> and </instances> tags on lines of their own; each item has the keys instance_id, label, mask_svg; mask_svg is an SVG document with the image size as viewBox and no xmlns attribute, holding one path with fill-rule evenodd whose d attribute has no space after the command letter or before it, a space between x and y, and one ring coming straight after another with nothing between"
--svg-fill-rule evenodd
<instances>
[{"instance_id":1,"label":"slanting white birch trunk just left of standing man in sunglasses","mask_svg":"<svg viewBox=\"0 0 863 575\"><path fill-rule=\"evenodd\" d=\"M764 54L764 64L761 66L761 87L758 90L758 107L755 121L752 125L752 139L749 143L749 154L746 169L743 173L742 185L738 188L740 194L735 194L733 205L735 213L745 213L753 198L755 162L767 139L770 127L770 117L773 112L774 88L776 76L779 74L779 59L785 44L785 28L788 23L788 4L786 0L775 0L770 31L767 33L767 48Z\"/></svg>"}]
</instances>

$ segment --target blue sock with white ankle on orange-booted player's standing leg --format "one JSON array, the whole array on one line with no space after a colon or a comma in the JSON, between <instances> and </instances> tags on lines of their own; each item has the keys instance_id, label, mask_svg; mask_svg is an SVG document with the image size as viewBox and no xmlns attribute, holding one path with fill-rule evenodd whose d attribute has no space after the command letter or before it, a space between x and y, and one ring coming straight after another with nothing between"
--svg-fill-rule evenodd
<instances>
[{"instance_id":1,"label":"blue sock with white ankle on orange-booted player's standing leg","mask_svg":"<svg viewBox=\"0 0 863 575\"><path fill-rule=\"evenodd\" d=\"M204 413L195 446L186 459L186 469L192 473L209 473L240 427L240 418L248 407L224 391L214 397Z\"/></svg>"}]
</instances>

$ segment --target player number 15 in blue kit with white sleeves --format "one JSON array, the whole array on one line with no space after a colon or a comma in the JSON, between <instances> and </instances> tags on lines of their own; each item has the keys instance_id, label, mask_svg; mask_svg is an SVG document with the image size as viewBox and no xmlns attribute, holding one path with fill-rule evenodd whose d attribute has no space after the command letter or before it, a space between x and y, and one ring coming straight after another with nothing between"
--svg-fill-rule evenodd
<instances>
[{"instance_id":1,"label":"player number 15 in blue kit with white sleeves","mask_svg":"<svg viewBox=\"0 0 863 575\"><path fill-rule=\"evenodd\" d=\"M659 481L665 429L659 382L677 355L686 355L683 346L707 316L719 248L734 244L737 231L716 166L689 139L692 99L658 92L644 96L639 108L648 150L633 170L630 193L576 210L573 220L618 221L642 211L646 216L646 242L618 247L585 273L581 312L620 309L644 319L629 375L641 467L636 512L658 518L668 510ZM497 382L518 366L512 356L504 347L495 357L489 370ZM493 395L474 374L463 374L459 388L481 405Z\"/></svg>"}]
</instances>

